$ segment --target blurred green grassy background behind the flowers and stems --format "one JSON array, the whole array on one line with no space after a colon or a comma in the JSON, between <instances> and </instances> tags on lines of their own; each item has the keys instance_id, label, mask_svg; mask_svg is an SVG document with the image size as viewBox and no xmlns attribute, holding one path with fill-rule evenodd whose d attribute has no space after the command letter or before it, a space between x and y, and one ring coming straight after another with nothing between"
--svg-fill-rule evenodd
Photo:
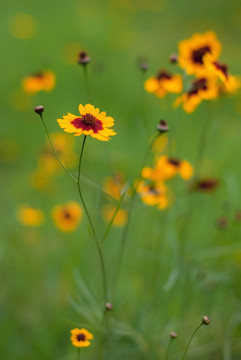
<instances>
[{"instance_id":1,"label":"blurred green grassy background behind the flowers and stems","mask_svg":"<svg viewBox=\"0 0 241 360\"><path fill-rule=\"evenodd\" d=\"M19 24L19 14L28 14L30 25ZM33 108L45 106L51 132L62 131L57 118L67 112L78 114L79 103L89 101L82 69L76 65L78 51L86 50L92 59L88 68L91 101L113 116L117 136L108 143L88 139L83 174L100 185L113 169L122 171L127 180L134 178L161 118L173 129L174 155L195 167L205 104L188 115L172 108L174 96L158 99L146 94L146 130L143 79L137 63L144 58L150 64L147 77L163 67L175 71L168 58L177 52L178 42L195 32L213 30L223 45L221 60L234 75L240 74L240 14L238 0L10 0L2 4L0 359L74 359L69 331L76 324L89 327L96 336L86 349L86 359L96 359L98 344L95 321L88 322L68 301L71 297L88 308L74 275L79 271L97 303L101 302L96 249L85 217L70 234L61 233L52 222L54 205L78 199L75 185L64 173L53 179L49 191L31 187L30 174L46 142ZM29 33L26 26L32 29ZM56 74L54 90L24 94L22 79L44 69ZM190 359L241 357L241 224L234 220L241 208L240 94L208 106L202 175L217 177L220 186L211 196L195 194L190 200L186 185L174 184L179 193L166 212L137 203L113 299L115 332L103 358L164 359L168 334L175 330L179 339L171 358L180 359L188 337L205 314L212 325L200 330ZM80 147L81 139L76 138L76 154ZM86 184L84 193L101 232L105 226L99 217L103 196ZM16 213L21 204L44 211L43 226L20 224ZM221 216L227 218L228 226L220 230L216 223ZM104 247L109 279L121 232L113 228ZM179 254L183 247L182 277ZM94 317L92 310L88 311Z\"/></svg>"}]
</instances>

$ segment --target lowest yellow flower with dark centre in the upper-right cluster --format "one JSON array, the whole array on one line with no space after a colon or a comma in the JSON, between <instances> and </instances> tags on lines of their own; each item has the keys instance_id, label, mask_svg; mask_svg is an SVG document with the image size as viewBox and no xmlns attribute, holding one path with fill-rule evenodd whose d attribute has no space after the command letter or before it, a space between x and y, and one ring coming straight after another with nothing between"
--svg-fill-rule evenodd
<instances>
[{"instance_id":1,"label":"lowest yellow flower with dark centre in the upper-right cluster","mask_svg":"<svg viewBox=\"0 0 241 360\"><path fill-rule=\"evenodd\" d=\"M192 87L188 92L176 99L174 106L182 104L187 113L192 113L202 100L215 99L218 94L219 87L215 77L198 78L192 83Z\"/></svg>"}]
</instances>

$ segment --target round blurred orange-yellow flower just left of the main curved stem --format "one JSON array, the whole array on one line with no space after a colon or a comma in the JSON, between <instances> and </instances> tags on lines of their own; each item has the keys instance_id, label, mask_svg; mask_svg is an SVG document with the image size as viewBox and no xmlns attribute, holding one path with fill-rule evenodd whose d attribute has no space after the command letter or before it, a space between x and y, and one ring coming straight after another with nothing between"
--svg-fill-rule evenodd
<instances>
[{"instance_id":1,"label":"round blurred orange-yellow flower just left of the main curved stem","mask_svg":"<svg viewBox=\"0 0 241 360\"><path fill-rule=\"evenodd\" d=\"M82 219L82 209L76 202L57 205L52 211L55 225L62 231L71 232L76 229Z\"/></svg>"}]
</instances>

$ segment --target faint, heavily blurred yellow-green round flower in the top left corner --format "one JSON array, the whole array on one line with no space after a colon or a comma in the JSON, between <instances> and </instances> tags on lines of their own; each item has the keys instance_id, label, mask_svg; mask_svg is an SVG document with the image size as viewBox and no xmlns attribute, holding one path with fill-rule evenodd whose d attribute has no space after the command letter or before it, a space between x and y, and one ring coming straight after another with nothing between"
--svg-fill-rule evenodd
<instances>
[{"instance_id":1,"label":"faint, heavily blurred yellow-green round flower in the top left corner","mask_svg":"<svg viewBox=\"0 0 241 360\"><path fill-rule=\"evenodd\" d=\"M29 14L15 14L10 18L9 31L18 39L31 39L36 34L36 21Z\"/></svg>"}]
</instances>

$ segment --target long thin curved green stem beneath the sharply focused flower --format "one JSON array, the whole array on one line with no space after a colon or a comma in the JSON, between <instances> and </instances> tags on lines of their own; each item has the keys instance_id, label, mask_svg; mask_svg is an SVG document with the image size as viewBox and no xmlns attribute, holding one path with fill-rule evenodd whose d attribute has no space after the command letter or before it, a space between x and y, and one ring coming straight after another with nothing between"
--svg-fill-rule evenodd
<instances>
[{"instance_id":1,"label":"long thin curved green stem beneath the sharply focused flower","mask_svg":"<svg viewBox=\"0 0 241 360\"><path fill-rule=\"evenodd\" d=\"M85 142L86 142L86 135L84 135L84 139L83 139L83 143L82 143L82 147L81 147L81 152L80 152L79 167L78 167L78 177L77 177L77 188L78 188L81 203L82 203L83 208L85 210L85 213L87 215L89 225L90 225L90 228L91 228L91 232L93 234L95 244L96 244L96 247L97 247L97 250L98 250L98 254L99 254L99 258L100 258L100 265L101 265L101 272L102 272L104 299L105 299L105 302L107 302L108 301L108 291L107 291L107 277L106 277L104 257L103 257L101 245L100 245L99 240L97 238L93 222L91 220L89 211L88 211L88 209L86 207L86 204L85 204L85 201L84 201L84 198L83 198L83 195L82 195L82 191L81 191L81 188L80 188L80 169L81 169L81 162L82 162L82 157L83 157L83 153L84 153Z\"/></svg>"}]
</instances>

